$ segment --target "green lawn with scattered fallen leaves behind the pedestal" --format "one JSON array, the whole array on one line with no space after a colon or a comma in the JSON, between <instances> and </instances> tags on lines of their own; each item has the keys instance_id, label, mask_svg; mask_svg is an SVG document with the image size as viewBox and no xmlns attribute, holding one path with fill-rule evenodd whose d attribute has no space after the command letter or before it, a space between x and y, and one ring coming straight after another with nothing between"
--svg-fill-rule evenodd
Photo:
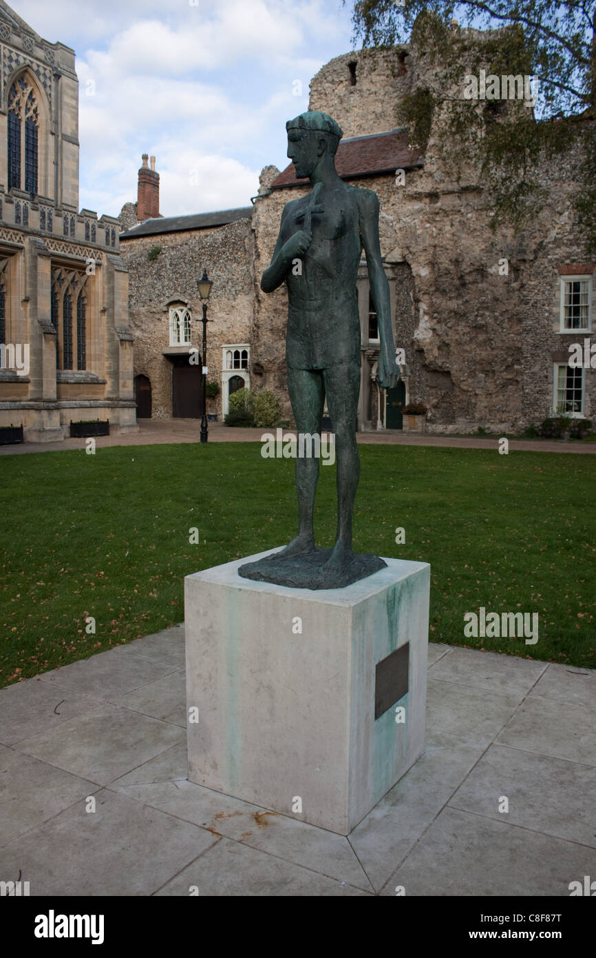
<instances>
[{"instance_id":1,"label":"green lawn with scattered fallen leaves behind the pedestal","mask_svg":"<svg viewBox=\"0 0 596 958\"><path fill-rule=\"evenodd\" d=\"M355 547L430 562L432 641L596 667L591 456L360 453ZM5 456L0 471L0 686L181 622L185 575L296 531L294 463L262 459L258 444ZM335 523L335 468L325 467L320 545ZM195 526L200 544L190 545ZM538 643L466 638L464 613L480 606L539 612Z\"/></svg>"}]
</instances>

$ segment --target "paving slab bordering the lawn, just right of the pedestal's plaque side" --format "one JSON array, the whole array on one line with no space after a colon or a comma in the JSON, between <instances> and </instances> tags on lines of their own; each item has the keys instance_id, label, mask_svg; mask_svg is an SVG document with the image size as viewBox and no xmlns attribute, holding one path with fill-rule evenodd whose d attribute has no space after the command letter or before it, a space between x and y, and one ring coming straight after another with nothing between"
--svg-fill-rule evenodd
<instances>
[{"instance_id":1,"label":"paving slab bordering the lawn, just right of the pedestal's plaque side","mask_svg":"<svg viewBox=\"0 0 596 958\"><path fill-rule=\"evenodd\" d=\"M489 689L507 696L526 696L546 670L545 662L514 658L498 652L453 649L435 662L429 677L476 689Z\"/></svg>"}]
</instances>

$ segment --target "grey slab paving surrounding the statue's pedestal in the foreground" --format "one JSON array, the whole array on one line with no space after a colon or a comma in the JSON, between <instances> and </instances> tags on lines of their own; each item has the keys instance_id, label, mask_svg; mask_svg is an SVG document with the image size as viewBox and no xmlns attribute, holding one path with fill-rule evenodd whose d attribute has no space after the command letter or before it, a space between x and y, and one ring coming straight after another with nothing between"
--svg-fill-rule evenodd
<instances>
[{"instance_id":1,"label":"grey slab paving surrounding the statue's pedestal in the foreground","mask_svg":"<svg viewBox=\"0 0 596 958\"><path fill-rule=\"evenodd\" d=\"M34 896L568 896L596 877L596 672L429 649L425 753L348 837L187 781L183 626L0 691L0 880Z\"/></svg>"}]
</instances>

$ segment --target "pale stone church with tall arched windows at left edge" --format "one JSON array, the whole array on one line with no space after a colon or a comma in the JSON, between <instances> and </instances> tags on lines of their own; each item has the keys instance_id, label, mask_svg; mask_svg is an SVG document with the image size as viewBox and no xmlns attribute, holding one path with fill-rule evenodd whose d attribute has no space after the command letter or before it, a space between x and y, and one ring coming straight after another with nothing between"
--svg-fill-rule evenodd
<instances>
[{"instance_id":1,"label":"pale stone church with tall arched windows at left edge","mask_svg":"<svg viewBox=\"0 0 596 958\"><path fill-rule=\"evenodd\" d=\"M0 427L137 429L120 220L78 209L75 52L0 0Z\"/></svg>"}]
</instances>

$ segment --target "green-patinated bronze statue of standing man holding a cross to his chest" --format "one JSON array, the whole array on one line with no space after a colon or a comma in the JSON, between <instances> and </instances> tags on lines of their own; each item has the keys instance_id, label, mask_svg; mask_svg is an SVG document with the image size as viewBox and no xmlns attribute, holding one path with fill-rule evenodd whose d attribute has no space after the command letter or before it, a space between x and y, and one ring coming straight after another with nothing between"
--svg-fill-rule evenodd
<instances>
[{"instance_id":1,"label":"green-patinated bronze statue of standing man holding a cross to his chest","mask_svg":"<svg viewBox=\"0 0 596 958\"><path fill-rule=\"evenodd\" d=\"M313 189L284 207L276 249L263 273L261 289L269 293L283 282L288 288L286 362L298 433L320 433L327 399L336 444L338 527L335 547L311 574L308 587L337 588L380 567L366 566L367 571L363 567L360 573L352 569L346 576L357 559L373 558L355 557L352 551L352 511L360 476L356 420L361 326L356 281L363 247L381 339L381 386L395 386L399 372L391 331L389 286L379 243L377 194L343 183L335 168L342 129L326 113L302 113L290 120L286 128L288 156L294 161L297 179L308 177ZM298 536L272 557L276 564L315 554L313 514L318 479L319 460L298 457ZM275 578L273 581L286 582Z\"/></svg>"}]
</instances>

